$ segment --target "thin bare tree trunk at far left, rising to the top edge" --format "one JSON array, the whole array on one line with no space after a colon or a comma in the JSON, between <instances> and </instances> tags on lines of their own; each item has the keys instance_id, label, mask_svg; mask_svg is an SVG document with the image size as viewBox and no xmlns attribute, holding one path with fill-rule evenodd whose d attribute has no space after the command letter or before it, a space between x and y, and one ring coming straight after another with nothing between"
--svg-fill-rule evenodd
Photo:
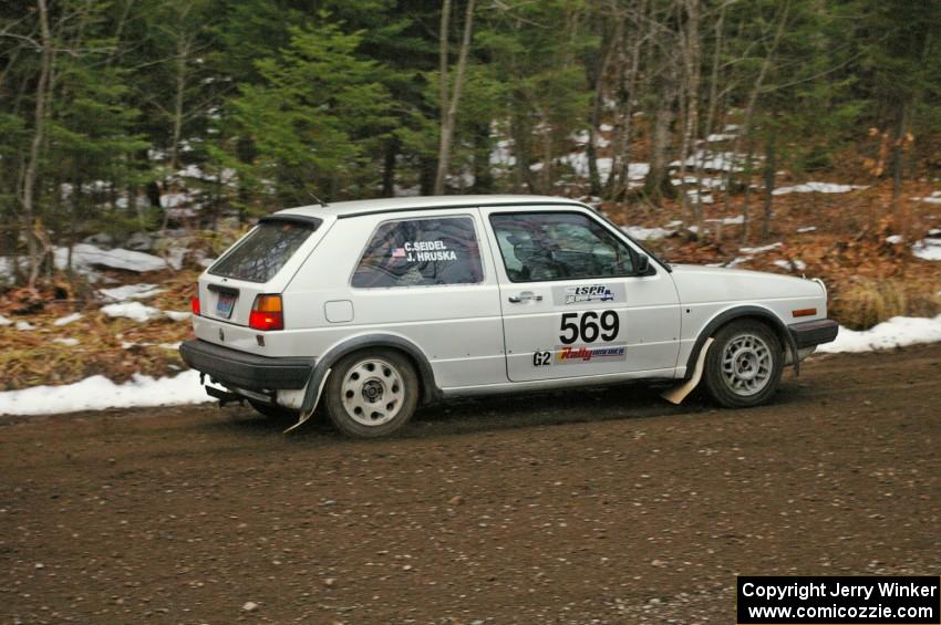
<instances>
[{"instance_id":1,"label":"thin bare tree trunk at far left, rising to the top edge","mask_svg":"<svg viewBox=\"0 0 941 625\"><path fill-rule=\"evenodd\" d=\"M39 169L39 152L42 146L43 132L45 129L45 97L49 87L49 74L52 67L52 33L49 30L49 11L45 0L37 0L39 8L39 23L42 37L42 54L40 56L39 82L35 87L35 126L33 128L33 140L30 145L30 154L27 168L23 174L23 192L21 201L23 206L22 228L27 238L27 249L30 256L29 287L35 288L35 281L40 272L40 241L35 233L35 176Z\"/></svg>"}]
</instances>

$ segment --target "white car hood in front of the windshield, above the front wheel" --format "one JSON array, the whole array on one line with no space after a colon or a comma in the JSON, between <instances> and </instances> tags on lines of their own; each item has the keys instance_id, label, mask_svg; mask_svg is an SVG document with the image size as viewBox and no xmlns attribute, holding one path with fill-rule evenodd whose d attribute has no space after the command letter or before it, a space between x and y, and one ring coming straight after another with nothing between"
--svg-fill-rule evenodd
<instances>
[{"instance_id":1,"label":"white car hood in front of the windshield, above the front wheel","mask_svg":"<svg viewBox=\"0 0 941 625\"><path fill-rule=\"evenodd\" d=\"M671 267L684 303L826 296L818 282L793 275L696 264Z\"/></svg>"}]
</instances>

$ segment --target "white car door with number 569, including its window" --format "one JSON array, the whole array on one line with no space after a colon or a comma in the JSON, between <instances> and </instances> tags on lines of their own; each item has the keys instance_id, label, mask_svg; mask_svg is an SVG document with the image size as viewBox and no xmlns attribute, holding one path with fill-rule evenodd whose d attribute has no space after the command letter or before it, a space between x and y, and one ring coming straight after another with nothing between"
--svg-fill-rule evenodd
<instances>
[{"instance_id":1,"label":"white car door with number 569, including its window","mask_svg":"<svg viewBox=\"0 0 941 625\"><path fill-rule=\"evenodd\" d=\"M497 259L507 376L672 377L680 308L669 273L587 209L484 209Z\"/></svg>"}]
</instances>

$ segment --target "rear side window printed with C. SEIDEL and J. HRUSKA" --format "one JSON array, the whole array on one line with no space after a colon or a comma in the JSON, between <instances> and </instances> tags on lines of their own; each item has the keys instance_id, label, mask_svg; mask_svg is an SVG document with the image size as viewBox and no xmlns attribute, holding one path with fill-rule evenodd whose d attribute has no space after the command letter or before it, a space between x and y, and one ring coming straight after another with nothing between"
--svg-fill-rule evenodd
<instances>
[{"instance_id":1,"label":"rear side window printed with C. SEIDEL and J. HRUSKA","mask_svg":"<svg viewBox=\"0 0 941 625\"><path fill-rule=\"evenodd\" d=\"M358 289L475 284L484 279L474 220L406 219L380 226L353 273Z\"/></svg>"}]
</instances>

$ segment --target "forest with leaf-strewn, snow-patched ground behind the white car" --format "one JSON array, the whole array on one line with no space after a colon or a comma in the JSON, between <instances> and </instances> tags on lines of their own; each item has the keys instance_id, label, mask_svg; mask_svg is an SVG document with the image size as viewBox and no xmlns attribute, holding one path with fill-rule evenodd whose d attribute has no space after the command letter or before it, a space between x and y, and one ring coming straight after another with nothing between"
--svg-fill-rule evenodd
<instances>
[{"instance_id":1,"label":"forest with leaf-strewn, snow-patched ground behind the white car","mask_svg":"<svg viewBox=\"0 0 941 625\"><path fill-rule=\"evenodd\" d=\"M4 385L178 367L198 272L313 198L568 196L935 315L939 139L939 0L4 2Z\"/></svg>"}]
</instances>

